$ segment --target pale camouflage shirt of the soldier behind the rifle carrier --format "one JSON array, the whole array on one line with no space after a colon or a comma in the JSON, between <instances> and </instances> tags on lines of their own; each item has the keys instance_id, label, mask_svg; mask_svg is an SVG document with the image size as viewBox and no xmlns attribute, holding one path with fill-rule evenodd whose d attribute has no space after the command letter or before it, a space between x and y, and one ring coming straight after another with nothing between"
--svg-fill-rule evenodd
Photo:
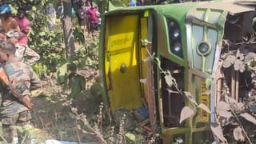
<instances>
[{"instance_id":1,"label":"pale camouflage shirt of the soldier behind the rifle carrier","mask_svg":"<svg viewBox=\"0 0 256 144\"><path fill-rule=\"evenodd\" d=\"M18 58L19 62L24 62L31 66L40 59L39 54L36 53L34 50L30 49L29 46L17 43L15 47L15 57Z\"/></svg>"}]
</instances>

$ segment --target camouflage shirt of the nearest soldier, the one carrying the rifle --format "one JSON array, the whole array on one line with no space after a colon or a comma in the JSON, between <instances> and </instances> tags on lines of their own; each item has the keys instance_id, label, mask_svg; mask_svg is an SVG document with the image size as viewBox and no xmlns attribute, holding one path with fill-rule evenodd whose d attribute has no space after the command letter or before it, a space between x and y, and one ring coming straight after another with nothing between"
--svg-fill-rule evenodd
<instances>
[{"instance_id":1,"label":"camouflage shirt of the nearest soldier, the one carrying the rifle","mask_svg":"<svg viewBox=\"0 0 256 144\"><path fill-rule=\"evenodd\" d=\"M17 60L8 61L4 66L4 70L10 82L15 82L18 90L22 88L22 95L30 95L30 89L41 87L41 80L32 68L25 63L18 62ZM18 114L28 110L26 106L23 106L10 94L9 90L3 86L1 88L2 105L0 114L2 116Z\"/></svg>"}]
</instances>

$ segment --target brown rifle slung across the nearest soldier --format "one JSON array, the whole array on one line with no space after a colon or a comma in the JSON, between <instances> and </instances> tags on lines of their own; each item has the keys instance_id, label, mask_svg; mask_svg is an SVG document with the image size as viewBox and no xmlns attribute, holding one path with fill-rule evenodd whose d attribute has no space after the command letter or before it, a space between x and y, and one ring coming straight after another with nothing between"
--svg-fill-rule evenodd
<instances>
[{"instance_id":1,"label":"brown rifle slung across the nearest soldier","mask_svg":"<svg viewBox=\"0 0 256 144\"><path fill-rule=\"evenodd\" d=\"M0 80L4 85L7 86L7 89L10 90L10 93L17 98L19 102L22 102L24 106L33 111L33 103L30 102L25 96L22 95L22 91L16 89L14 84L10 83L5 70L3 70L2 66L0 66ZM15 83L15 82L14 82Z\"/></svg>"}]
</instances>

